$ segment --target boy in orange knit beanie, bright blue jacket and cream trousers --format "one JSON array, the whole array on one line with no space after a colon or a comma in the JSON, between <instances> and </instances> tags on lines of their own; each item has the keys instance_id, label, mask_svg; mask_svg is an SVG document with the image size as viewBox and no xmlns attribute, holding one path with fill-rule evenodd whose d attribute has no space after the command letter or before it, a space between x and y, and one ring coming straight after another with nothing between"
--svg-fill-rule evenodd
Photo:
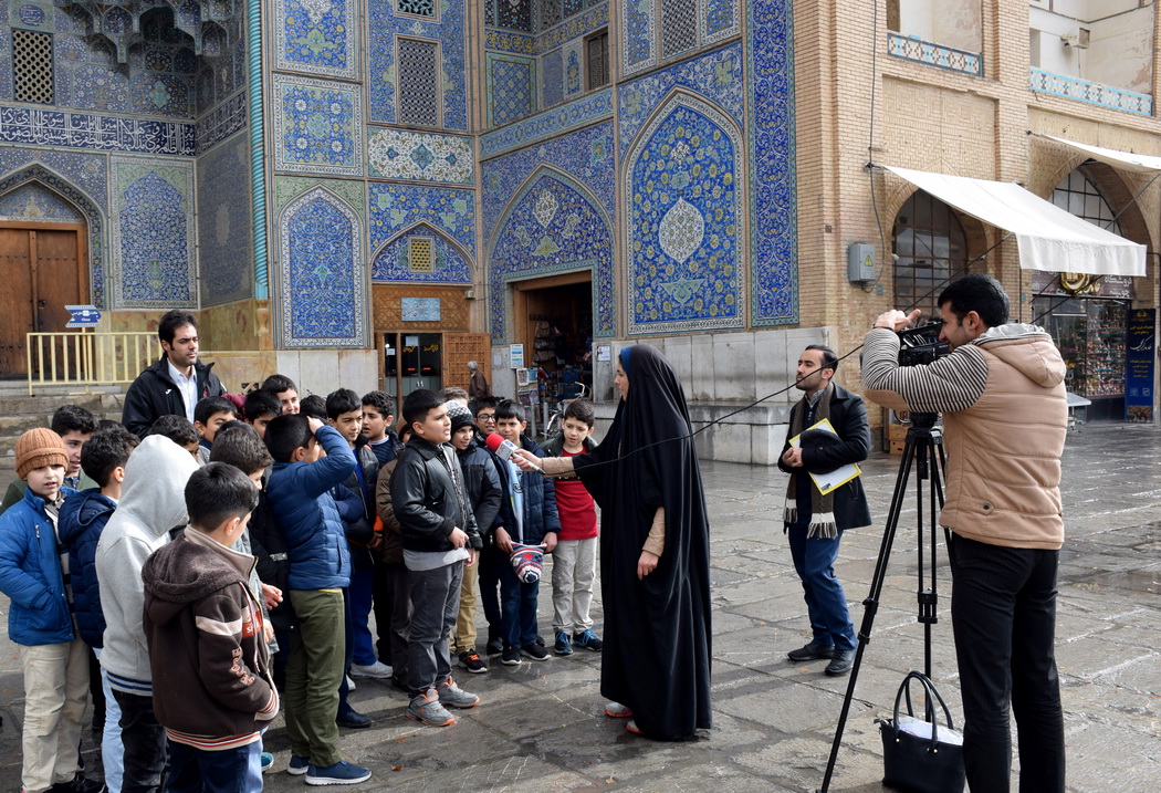
<instances>
[{"instance_id":1,"label":"boy in orange knit beanie, bright blue jacket and cream trousers","mask_svg":"<svg viewBox=\"0 0 1161 793\"><path fill-rule=\"evenodd\" d=\"M80 720L88 697L88 649L77 637L68 603L68 562L57 520L68 454L44 427L16 441L24 497L0 516L0 591L12 598L8 637L24 673L21 781L26 791L96 791L80 771ZM59 786L59 787L58 787Z\"/></svg>"}]
</instances>

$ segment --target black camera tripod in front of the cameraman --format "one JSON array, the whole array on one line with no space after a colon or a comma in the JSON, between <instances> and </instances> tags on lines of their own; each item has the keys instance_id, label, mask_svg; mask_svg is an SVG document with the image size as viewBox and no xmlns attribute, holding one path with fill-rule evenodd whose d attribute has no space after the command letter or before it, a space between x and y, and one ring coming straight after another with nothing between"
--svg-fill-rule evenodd
<instances>
[{"instance_id":1,"label":"black camera tripod in front of the cameraman","mask_svg":"<svg viewBox=\"0 0 1161 793\"><path fill-rule=\"evenodd\" d=\"M859 626L858 649L854 653L854 664L851 666L850 679L846 684L846 695L843 697L843 709L838 716L838 727L835 729L835 741L830 747L830 758L827 762L827 773L822 778L822 787L819 793L827 793L830 788L830 779L835 772L835 760L838 758L838 748L843 741L843 729L846 727L846 716L851 709L851 700L854 698L854 684L859 678L859 668L863 665L863 654L871 642L871 630L874 626L875 613L879 611L879 594L882 592L882 583L887 577L887 562L890 558L890 549L895 542L895 532L899 528L899 516L903 509L903 499L907 497L907 482L911 476L913 463L916 468L915 492L916 492L916 520L918 528L918 621L923 623L923 672L931 677L931 626L938 621L936 606L939 596L936 589L936 532L938 528L939 510L943 509L944 493L942 471L946 466L943 449L943 430L936 426L936 413L911 413L911 426L907 431L907 440L903 445L903 459L899 466L899 474L895 477L895 490L890 497L890 511L887 513L887 525L882 532L882 545L879 547L879 558L875 562L874 575L871 578L871 592L863 601L865 611L863 623ZM926 526L930 532L930 541L924 538L923 524L923 482L930 483L928 496L928 507L930 510L930 521ZM945 540L947 532L944 531ZM930 563L930 564L929 564ZM932 704L928 702L928 719L931 716Z\"/></svg>"}]
</instances>

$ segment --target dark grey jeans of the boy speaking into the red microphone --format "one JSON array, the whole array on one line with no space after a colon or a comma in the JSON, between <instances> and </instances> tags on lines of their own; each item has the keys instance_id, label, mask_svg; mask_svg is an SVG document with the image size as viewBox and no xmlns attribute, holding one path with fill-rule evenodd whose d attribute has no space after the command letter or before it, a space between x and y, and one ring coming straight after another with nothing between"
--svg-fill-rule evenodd
<instances>
[{"instance_id":1,"label":"dark grey jeans of the boy speaking into the red microphone","mask_svg":"<svg viewBox=\"0 0 1161 793\"><path fill-rule=\"evenodd\" d=\"M408 689L421 695L452 673L447 642L460 611L463 562L434 570L408 570L411 585L411 633L408 642Z\"/></svg>"}]
</instances>

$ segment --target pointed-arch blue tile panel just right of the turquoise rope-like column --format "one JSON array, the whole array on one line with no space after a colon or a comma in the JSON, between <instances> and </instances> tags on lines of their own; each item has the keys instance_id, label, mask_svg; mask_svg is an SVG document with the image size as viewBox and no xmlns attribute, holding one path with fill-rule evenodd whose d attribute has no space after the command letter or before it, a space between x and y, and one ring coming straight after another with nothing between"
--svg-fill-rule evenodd
<instances>
[{"instance_id":1,"label":"pointed-arch blue tile panel just right of the turquoise rope-like column","mask_svg":"<svg viewBox=\"0 0 1161 793\"><path fill-rule=\"evenodd\" d=\"M318 187L287 206L279 238L283 346L363 346L359 216Z\"/></svg>"}]
</instances>

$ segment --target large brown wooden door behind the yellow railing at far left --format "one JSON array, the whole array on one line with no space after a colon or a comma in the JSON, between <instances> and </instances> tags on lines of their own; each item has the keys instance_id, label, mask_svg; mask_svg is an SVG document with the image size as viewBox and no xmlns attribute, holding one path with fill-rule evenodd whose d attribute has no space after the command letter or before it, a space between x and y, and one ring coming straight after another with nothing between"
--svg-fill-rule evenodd
<instances>
[{"instance_id":1,"label":"large brown wooden door behind the yellow railing at far left","mask_svg":"<svg viewBox=\"0 0 1161 793\"><path fill-rule=\"evenodd\" d=\"M65 331L65 305L88 302L82 240L72 224L0 228L0 283L12 295L0 311L0 375L27 373L26 333Z\"/></svg>"}]
</instances>

